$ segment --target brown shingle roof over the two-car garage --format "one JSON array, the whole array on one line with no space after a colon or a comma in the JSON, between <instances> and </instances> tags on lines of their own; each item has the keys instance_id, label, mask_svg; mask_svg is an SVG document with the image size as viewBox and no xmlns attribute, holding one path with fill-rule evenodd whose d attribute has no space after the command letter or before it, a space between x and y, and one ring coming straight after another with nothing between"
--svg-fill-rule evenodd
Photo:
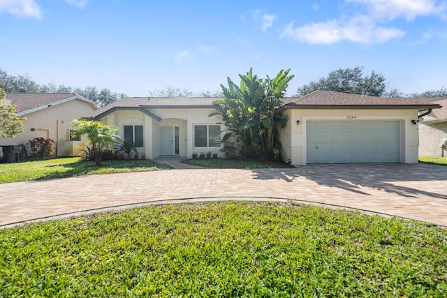
<instances>
[{"instance_id":1,"label":"brown shingle roof over the two-car garage","mask_svg":"<svg viewBox=\"0 0 447 298\"><path fill-rule=\"evenodd\" d=\"M436 103L409 100L408 98L383 98L378 96L318 90L300 98L287 98L285 104L280 107L279 110L294 108L418 108L419 110L427 110L439 107L440 106Z\"/></svg>"}]
</instances>

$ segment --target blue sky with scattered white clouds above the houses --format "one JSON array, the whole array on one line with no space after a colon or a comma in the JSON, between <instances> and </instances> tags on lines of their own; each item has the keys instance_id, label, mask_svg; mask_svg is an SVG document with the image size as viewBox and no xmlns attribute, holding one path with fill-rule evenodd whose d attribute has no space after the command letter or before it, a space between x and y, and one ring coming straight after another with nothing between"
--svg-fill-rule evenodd
<instances>
[{"instance_id":1,"label":"blue sky with scattered white clouds above the houses","mask_svg":"<svg viewBox=\"0 0 447 298\"><path fill-rule=\"evenodd\" d=\"M0 0L0 28L10 75L129 96L220 91L250 67L291 68L289 96L356 66L406 94L447 87L447 0Z\"/></svg>"}]
</instances>

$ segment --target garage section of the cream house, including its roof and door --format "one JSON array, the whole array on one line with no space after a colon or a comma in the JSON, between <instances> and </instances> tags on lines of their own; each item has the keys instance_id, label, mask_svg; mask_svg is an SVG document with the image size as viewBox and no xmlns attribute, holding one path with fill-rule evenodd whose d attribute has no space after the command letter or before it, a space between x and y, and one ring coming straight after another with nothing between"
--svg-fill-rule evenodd
<instances>
[{"instance_id":1,"label":"garage section of the cream house, including its roof and door","mask_svg":"<svg viewBox=\"0 0 447 298\"><path fill-rule=\"evenodd\" d=\"M405 98L314 91L287 98L278 112L284 161L308 163L418 163L418 113L439 108Z\"/></svg>"}]
</instances>

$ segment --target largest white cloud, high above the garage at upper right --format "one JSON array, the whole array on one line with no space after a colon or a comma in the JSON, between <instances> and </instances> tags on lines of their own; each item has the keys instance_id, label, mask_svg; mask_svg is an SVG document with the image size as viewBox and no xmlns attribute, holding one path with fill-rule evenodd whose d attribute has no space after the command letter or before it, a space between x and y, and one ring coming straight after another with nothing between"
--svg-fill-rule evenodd
<instances>
[{"instance_id":1,"label":"largest white cloud, high above the garage at upper right","mask_svg":"<svg viewBox=\"0 0 447 298\"><path fill-rule=\"evenodd\" d=\"M300 27L294 27L294 22L290 22L281 37L309 44L332 44L342 40L362 44L386 43L406 34L402 29L387 26L397 18L412 21L416 17L434 15L444 20L447 13L444 0L345 0L345 4L355 4L358 12L351 17Z\"/></svg>"}]
</instances>

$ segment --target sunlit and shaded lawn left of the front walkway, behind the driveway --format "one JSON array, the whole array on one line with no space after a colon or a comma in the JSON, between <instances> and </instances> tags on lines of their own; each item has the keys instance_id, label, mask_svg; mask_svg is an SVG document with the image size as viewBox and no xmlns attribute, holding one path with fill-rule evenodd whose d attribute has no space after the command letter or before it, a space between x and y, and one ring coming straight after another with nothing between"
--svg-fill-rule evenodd
<instances>
[{"instance_id":1,"label":"sunlit and shaded lawn left of the front walkway, behind the driveway","mask_svg":"<svg viewBox=\"0 0 447 298\"><path fill-rule=\"evenodd\" d=\"M88 174L141 172L169 168L168 165L151 160L103 161L102 164L102 167L94 167L93 161L80 162L78 157L27 161L24 163L4 163L0 164L0 184Z\"/></svg>"}]
</instances>

